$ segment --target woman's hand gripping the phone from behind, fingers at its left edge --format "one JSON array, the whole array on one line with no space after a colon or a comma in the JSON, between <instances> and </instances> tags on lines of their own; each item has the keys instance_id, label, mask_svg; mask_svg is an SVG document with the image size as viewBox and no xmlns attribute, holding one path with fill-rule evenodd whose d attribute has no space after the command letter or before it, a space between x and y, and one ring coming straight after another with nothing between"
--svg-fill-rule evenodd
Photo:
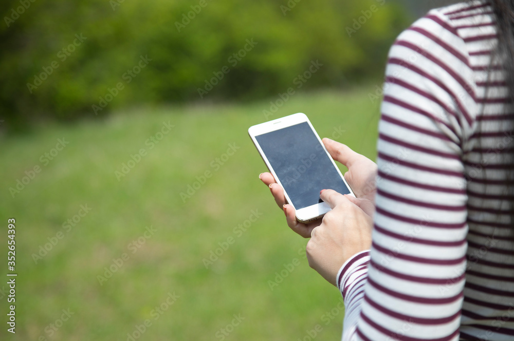
<instances>
[{"instance_id":1,"label":"woman's hand gripping the phone from behind, fingers at its left edge","mask_svg":"<svg viewBox=\"0 0 514 341\"><path fill-rule=\"evenodd\" d=\"M331 139L323 139L323 144L334 160L348 168L348 172L344 174L344 179L357 197L354 200L351 198L351 201L372 217L375 213L375 178L377 175L375 162L356 153L350 147ZM321 224L321 219L308 224L299 222L296 220L295 209L287 204L282 187L276 183L271 173L262 173L259 178L269 186L275 202L284 210L287 225L302 237L310 238L312 230Z\"/></svg>"}]
</instances>

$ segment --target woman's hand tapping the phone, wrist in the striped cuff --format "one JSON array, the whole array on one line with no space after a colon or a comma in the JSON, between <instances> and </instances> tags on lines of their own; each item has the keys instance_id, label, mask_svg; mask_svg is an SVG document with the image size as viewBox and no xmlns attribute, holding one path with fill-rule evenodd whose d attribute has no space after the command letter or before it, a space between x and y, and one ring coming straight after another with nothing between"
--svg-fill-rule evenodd
<instances>
[{"instance_id":1,"label":"woman's hand tapping the phone, wrist in the striped cuff","mask_svg":"<svg viewBox=\"0 0 514 341\"><path fill-rule=\"evenodd\" d=\"M307 259L311 268L337 286L337 273L346 260L371 248L373 218L359 207L366 199L333 190L324 190L320 196L332 211L325 214L321 225L312 231L307 243Z\"/></svg>"}]
</instances>

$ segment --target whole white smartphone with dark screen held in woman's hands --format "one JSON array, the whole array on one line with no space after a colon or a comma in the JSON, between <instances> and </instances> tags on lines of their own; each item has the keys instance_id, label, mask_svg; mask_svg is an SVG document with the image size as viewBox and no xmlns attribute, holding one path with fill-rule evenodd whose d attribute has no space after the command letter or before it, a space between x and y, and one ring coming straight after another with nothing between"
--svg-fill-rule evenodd
<instances>
[{"instance_id":1,"label":"whole white smartphone with dark screen held in woman's hands","mask_svg":"<svg viewBox=\"0 0 514 341\"><path fill-rule=\"evenodd\" d=\"M315 221L331 210L321 190L355 196L304 113L254 125L248 134L298 221Z\"/></svg>"}]
</instances>

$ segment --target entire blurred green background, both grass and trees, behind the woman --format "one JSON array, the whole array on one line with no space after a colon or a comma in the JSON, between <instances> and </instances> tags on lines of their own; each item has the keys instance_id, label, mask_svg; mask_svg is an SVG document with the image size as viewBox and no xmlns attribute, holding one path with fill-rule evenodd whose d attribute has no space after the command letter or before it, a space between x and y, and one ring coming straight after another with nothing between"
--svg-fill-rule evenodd
<instances>
[{"instance_id":1,"label":"entire blurred green background, both grass and trees, behind the woman","mask_svg":"<svg viewBox=\"0 0 514 341\"><path fill-rule=\"evenodd\" d=\"M305 112L374 159L389 46L436 5L2 2L0 242L7 258L15 218L18 276L13 335L5 259L0 339L340 338L340 294L247 129Z\"/></svg>"}]
</instances>

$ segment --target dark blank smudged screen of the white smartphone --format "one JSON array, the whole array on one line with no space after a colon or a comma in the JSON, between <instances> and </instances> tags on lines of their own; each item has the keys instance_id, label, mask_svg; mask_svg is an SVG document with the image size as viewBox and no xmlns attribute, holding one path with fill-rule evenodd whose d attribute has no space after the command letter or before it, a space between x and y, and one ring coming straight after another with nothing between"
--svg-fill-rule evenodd
<instances>
[{"instance_id":1,"label":"dark blank smudged screen of the white smartphone","mask_svg":"<svg viewBox=\"0 0 514 341\"><path fill-rule=\"evenodd\" d=\"M350 194L307 122L255 139L297 210L322 202L321 190Z\"/></svg>"}]
</instances>

